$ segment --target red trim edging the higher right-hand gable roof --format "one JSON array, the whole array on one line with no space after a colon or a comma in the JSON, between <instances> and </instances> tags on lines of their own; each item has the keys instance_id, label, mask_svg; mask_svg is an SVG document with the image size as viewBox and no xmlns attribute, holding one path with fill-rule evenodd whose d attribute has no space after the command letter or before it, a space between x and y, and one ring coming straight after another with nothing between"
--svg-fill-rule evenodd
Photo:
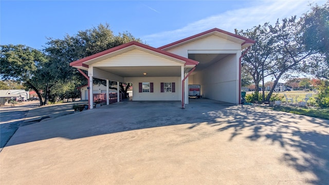
<instances>
[{"instance_id":1,"label":"red trim edging the higher right-hand gable roof","mask_svg":"<svg viewBox=\"0 0 329 185\"><path fill-rule=\"evenodd\" d=\"M202 33L198 33L196 35L193 35L193 36L189 36L188 38L186 39L182 39L182 40L179 40L179 41L176 41L176 42L173 42L171 44L167 44L165 46L161 46L161 47L158 47L158 49L165 49L165 48L168 48L168 47L171 47L171 46L174 46L176 44L180 44L182 42L186 42L186 41L189 41L189 40L192 40L192 39L195 39L195 38L198 38L199 36L202 36L202 35L205 35L205 34L208 34L208 33L211 33L211 32L214 32L214 31L218 31L218 32L221 32L221 33L224 33L224 34L227 34L227 35L230 35L230 36L233 36L237 39L241 39L241 40L244 40L245 42L242 43L241 45L244 45L244 44L254 44L255 41L251 40L251 39L247 39L243 36L240 36L240 35L237 35L237 34L233 34L233 33L230 33L230 32L227 32L227 31L224 31L224 30L221 30L221 29L218 29L218 28L213 28L211 30L208 30L208 31L205 31L205 32L202 32Z\"/></svg>"}]
</instances>

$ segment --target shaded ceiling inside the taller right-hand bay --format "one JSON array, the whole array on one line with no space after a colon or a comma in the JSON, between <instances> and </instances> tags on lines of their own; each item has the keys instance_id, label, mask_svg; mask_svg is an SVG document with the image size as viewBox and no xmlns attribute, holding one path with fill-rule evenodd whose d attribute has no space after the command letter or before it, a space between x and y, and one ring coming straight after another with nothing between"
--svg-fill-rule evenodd
<instances>
[{"instance_id":1,"label":"shaded ceiling inside the taller right-hand bay","mask_svg":"<svg viewBox=\"0 0 329 185\"><path fill-rule=\"evenodd\" d=\"M189 53L189 59L198 61L199 64L196 66L195 71L201 71L205 68L209 67L210 65L224 59L229 54L191 54Z\"/></svg>"}]
</instances>

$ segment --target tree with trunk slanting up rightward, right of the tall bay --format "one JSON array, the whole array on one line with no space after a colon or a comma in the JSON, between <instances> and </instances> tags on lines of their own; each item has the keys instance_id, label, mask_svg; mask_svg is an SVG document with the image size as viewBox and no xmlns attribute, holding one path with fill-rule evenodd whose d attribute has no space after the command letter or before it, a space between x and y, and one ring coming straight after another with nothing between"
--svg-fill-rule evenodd
<instances>
[{"instance_id":1,"label":"tree with trunk slanting up rightward, right of the tall bay","mask_svg":"<svg viewBox=\"0 0 329 185\"><path fill-rule=\"evenodd\" d=\"M302 20L298 21L296 16L293 16L284 18L282 23L277 21L275 26L269 26L276 48L271 56L273 63L270 67L275 81L266 101L269 101L281 77L289 78L291 76L289 71L301 71L303 65L316 53L315 49L306 49L303 44L302 24Z\"/></svg>"}]
</instances>

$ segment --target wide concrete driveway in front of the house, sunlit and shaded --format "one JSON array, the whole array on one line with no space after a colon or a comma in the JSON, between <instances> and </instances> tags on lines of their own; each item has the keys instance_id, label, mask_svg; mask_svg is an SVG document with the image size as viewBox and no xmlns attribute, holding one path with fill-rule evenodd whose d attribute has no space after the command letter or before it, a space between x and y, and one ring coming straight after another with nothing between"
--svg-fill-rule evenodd
<instances>
[{"instance_id":1,"label":"wide concrete driveway in front of the house, sunlit and shaded","mask_svg":"<svg viewBox=\"0 0 329 185\"><path fill-rule=\"evenodd\" d=\"M120 102L20 127L1 184L328 184L329 121L206 99Z\"/></svg>"}]
</instances>

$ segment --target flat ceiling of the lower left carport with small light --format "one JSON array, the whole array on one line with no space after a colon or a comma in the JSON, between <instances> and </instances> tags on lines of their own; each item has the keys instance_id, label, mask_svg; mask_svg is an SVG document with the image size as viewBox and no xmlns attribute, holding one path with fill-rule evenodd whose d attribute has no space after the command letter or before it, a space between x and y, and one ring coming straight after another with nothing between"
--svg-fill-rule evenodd
<instances>
[{"instance_id":1,"label":"flat ceiling of the lower left carport with small light","mask_svg":"<svg viewBox=\"0 0 329 185\"><path fill-rule=\"evenodd\" d=\"M180 77L180 66L99 67L120 77ZM143 75L146 72L147 75Z\"/></svg>"}]
</instances>

